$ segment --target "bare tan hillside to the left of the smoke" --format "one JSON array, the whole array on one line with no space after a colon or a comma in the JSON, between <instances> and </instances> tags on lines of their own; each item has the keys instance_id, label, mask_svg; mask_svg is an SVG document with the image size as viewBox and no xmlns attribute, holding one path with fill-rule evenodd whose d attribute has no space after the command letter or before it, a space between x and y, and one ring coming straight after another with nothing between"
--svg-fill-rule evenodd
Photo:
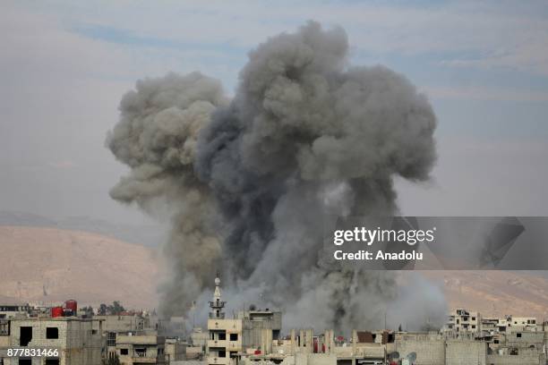
<instances>
[{"instance_id":1,"label":"bare tan hillside to the left of the smoke","mask_svg":"<svg viewBox=\"0 0 548 365\"><path fill-rule=\"evenodd\" d=\"M0 226L0 298L157 306L153 250L96 233Z\"/></svg>"}]
</instances>

